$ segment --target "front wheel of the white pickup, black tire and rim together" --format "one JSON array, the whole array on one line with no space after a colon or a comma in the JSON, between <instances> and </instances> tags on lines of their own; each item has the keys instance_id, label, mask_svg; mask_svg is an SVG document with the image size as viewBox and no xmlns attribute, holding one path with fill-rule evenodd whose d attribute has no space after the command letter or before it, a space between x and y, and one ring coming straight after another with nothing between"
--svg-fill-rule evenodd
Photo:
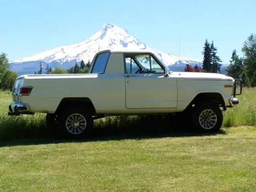
<instances>
[{"instance_id":1,"label":"front wheel of the white pickup, black tire and rim together","mask_svg":"<svg viewBox=\"0 0 256 192\"><path fill-rule=\"evenodd\" d=\"M220 108L212 103L199 103L193 107L192 124L200 132L210 133L220 130L223 115Z\"/></svg>"}]
</instances>

